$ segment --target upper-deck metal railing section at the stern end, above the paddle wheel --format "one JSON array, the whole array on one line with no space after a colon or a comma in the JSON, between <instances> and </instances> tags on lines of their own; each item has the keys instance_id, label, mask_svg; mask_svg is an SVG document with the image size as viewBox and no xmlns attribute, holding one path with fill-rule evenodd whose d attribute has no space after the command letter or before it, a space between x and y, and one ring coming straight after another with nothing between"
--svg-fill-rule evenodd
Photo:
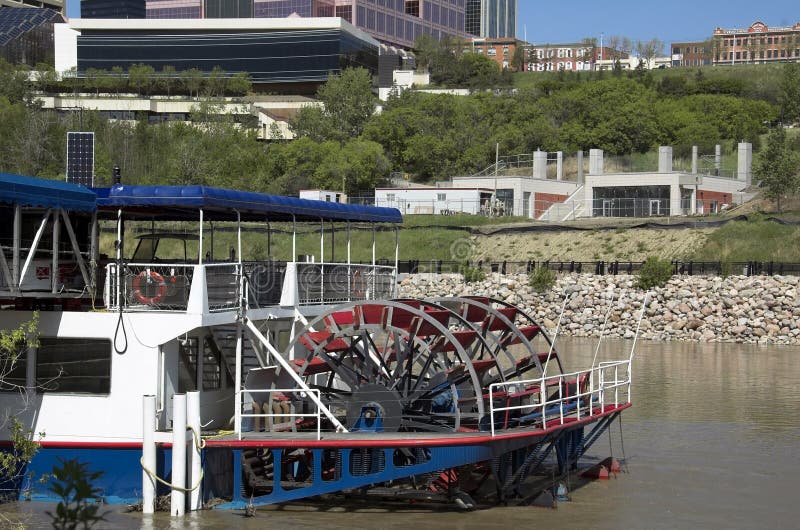
<instances>
[{"instance_id":1,"label":"upper-deck metal railing section at the stern end, above the paddle wheel","mask_svg":"<svg viewBox=\"0 0 800 530\"><path fill-rule=\"evenodd\" d=\"M297 263L301 305L387 299L394 295L395 269L383 265Z\"/></svg>"}]
</instances>

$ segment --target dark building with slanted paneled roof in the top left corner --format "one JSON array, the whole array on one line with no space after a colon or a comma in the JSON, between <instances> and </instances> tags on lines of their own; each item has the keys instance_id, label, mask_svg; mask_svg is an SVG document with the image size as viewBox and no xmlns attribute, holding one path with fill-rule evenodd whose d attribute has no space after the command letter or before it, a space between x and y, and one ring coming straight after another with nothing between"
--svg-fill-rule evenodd
<instances>
[{"instance_id":1,"label":"dark building with slanted paneled roof in the top left corner","mask_svg":"<svg viewBox=\"0 0 800 530\"><path fill-rule=\"evenodd\" d=\"M0 58L12 64L53 64L54 24L61 12L38 7L0 8Z\"/></svg>"}]
</instances>

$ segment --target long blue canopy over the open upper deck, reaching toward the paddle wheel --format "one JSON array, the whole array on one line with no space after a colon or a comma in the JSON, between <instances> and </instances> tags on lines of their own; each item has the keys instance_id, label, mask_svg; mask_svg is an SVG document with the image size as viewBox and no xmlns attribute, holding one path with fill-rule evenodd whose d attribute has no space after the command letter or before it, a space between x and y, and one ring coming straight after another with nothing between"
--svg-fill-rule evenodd
<instances>
[{"instance_id":1,"label":"long blue canopy over the open upper deck, reaching toward the paddle wheel","mask_svg":"<svg viewBox=\"0 0 800 530\"><path fill-rule=\"evenodd\" d=\"M96 192L100 209L123 208L126 212L161 219L196 219L197 210L203 209L209 219L235 219L238 211L244 221L290 221L294 216L298 221L403 222L396 208L312 201L208 186L117 184Z\"/></svg>"}]
</instances>

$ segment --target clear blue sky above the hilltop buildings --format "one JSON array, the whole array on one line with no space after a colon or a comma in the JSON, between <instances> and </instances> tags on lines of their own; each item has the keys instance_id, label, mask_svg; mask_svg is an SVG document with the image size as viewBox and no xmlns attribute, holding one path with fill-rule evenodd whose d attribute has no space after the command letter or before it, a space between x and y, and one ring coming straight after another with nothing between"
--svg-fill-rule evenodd
<instances>
[{"instance_id":1,"label":"clear blue sky above the hilltop buildings","mask_svg":"<svg viewBox=\"0 0 800 530\"><path fill-rule=\"evenodd\" d=\"M67 0L67 14L77 17L80 0ZM800 22L797 0L519 0L520 38L543 43L575 42L600 34L633 40L658 37L666 43L702 40L714 28L744 28L756 20L768 26Z\"/></svg>"}]
</instances>

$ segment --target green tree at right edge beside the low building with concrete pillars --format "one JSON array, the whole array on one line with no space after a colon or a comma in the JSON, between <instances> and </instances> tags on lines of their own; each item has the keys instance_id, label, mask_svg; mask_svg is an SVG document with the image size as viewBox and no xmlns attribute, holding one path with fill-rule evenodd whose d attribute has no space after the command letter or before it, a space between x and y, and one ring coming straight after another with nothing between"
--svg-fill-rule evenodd
<instances>
[{"instance_id":1,"label":"green tree at right edge beside the low building with concrete pillars","mask_svg":"<svg viewBox=\"0 0 800 530\"><path fill-rule=\"evenodd\" d=\"M797 193L800 188L800 153L792 150L783 127L773 129L767 146L753 167L761 179L764 196L776 202L781 211L781 200Z\"/></svg>"}]
</instances>

